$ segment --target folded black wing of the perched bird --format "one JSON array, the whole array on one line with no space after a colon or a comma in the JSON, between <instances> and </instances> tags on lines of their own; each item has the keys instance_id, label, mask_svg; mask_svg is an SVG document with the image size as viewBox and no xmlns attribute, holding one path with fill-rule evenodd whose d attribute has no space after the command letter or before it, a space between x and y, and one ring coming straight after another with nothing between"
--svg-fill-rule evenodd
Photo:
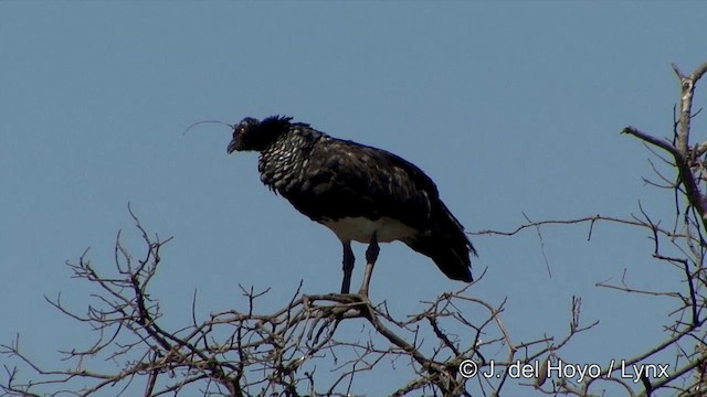
<instances>
[{"instance_id":1,"label":"folded black wing of the perched bird","mask_svg":"<svg viewBox=\"0 0 707 397\"><path fill-rule=\"evenodd\" d=\"M388 216L429 227L437 189L414 164L356 142L327 137L310 151L302 184L281 192L314 221Z\"/></svg>"}]
</instances>

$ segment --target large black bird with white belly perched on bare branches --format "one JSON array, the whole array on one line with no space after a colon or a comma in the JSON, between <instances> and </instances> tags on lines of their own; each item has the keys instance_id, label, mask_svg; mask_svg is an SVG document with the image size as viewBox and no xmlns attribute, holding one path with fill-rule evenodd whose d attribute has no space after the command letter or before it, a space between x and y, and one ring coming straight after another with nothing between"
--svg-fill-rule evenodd
<instances>
[{"instance_id":1,"label":"large black bird with white belly perched on bare branches","mask_svg":"<svg viewBox=\"0 0 707 397\"><path fill-rule=\"evenodd\" d=\"M341 293L349 293L351 283L352 240L369 244L362 296L368 296L378 243L394 240L432 258L449 278L473 281L469 251L476 255L476 249L422 170L393 153L291 120L244 118L233 128L228 152L258 151L261 181L337 235L344 246Z\"/></svg>"}]
</instances>

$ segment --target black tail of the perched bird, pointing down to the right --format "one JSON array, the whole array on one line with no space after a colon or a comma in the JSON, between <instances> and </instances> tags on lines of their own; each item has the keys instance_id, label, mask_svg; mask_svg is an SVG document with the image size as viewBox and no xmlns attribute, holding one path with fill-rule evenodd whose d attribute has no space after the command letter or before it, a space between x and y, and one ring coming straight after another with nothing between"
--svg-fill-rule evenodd
<instances>
[{"instance_id":1,"label":"black tail of the perched bird, pointing down to the right","mask_svg":"<svg viewBox=\"0 0 707 397\"><path fill-rule=\"evenodd\" d=\"M446 208L445 208L446 210ZM464 228L445 211L442 219L437 219L434 230L419 234L404 242L410 248L430 257L434 264L452 280L474 281L469 254L476 249L464 234Z\"/></svg>"}]
</instances>

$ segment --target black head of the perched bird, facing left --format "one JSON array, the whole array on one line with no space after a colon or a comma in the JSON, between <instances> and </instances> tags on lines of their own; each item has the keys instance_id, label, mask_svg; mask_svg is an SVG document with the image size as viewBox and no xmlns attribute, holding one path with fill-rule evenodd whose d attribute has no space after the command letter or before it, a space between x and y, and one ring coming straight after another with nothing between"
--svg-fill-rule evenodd
<instances>
[{"instance_id":1,"label":"black head of the perched bird, facing left","mask_svg":"<svg viewBox=\"0 0 707 397\"><path fill-rule=\"evenodd\" d=\"M229 143L228 152L261 151L277 137L289 130L292 117L272 116L263 121L246 117L233 127L233 139Z\"/></svg>"}]
</instances>

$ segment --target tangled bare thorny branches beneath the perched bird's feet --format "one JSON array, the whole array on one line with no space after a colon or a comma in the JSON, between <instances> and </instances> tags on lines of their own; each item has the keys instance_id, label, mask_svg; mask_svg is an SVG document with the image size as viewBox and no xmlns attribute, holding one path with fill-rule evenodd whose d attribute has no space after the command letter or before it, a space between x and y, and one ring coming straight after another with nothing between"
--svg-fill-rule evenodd
<instances>
[{"instance_id":1,"label":"tangled bare thorny branches beneath the perched bird's feet","mask_svg":"<svg viewBox=\"0 0 707 397\"><path fill-rule=\"evenodd\" d=\"M577 326L559 342L553 337L514 344L505 328L504 304L493 305L465 294L465 289L444 293L426 309L397 319L386 303L373 304L357 294L303 294L297 289L281 309L262 313L268 290L241 286L245 310L211 313L199 321L196 294L187 326L168 329L162 323L159 301L150 291L161 262L160 253L170 239L151 238L138 218L130 216L143 236L146 253L136 259L120 242L115 243L113 275L104 275L86 257L67 264L74 277L97 288L85 314L61 300L49 300L62 313L87 324L96 341L87 348L65 352L70 369L46 369L25 355L18 336L1 345L0 354L14 357L17 366L6 366L0 388L8 395L62 395L65 389L80 396L96 393L144 396L162 395L335 395L366 393L363 373L390 365L409 368L404 385L390 394L409 393L471 396L471 383L458 366L472 360L479 368L487 356L505 350L505 360L495 365L503 374L497 380L476 385L484 393L499 393L509 379L507 367L516 360L530 361L559 350L573 335L592 325L579 325L579 309L572 318ZM302 285L299 286L302 287ZM355 335L342 330L350 324L363 331ZM490 353L484 353L484 351ZM518 357L518 352L525 352ZM117 363L114 371L99 362ZM22 371L34 380L21 382Z\"/></svg>"}]
</instances>

